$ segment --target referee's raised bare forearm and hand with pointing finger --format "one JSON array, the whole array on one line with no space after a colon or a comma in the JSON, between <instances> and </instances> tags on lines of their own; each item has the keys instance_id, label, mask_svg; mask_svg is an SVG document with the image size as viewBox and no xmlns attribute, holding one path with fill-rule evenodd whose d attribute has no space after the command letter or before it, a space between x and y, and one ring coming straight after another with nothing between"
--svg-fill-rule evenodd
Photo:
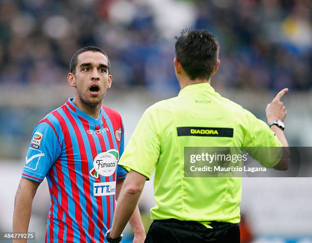
<instances>
[{"instance_id":1,"label":"referee's raised bare forearm and hand with pointing finger","mask_svg":"<svg viewBox=\"0 0 312 243\"><path fill-rule=\"evenodd\" d=\"M288 89L282 89L272 100L271 103L267 105L266 108L266 116L268 123L270 124L274 120L281 120L282 122L285 120L287 115L287 110L285 106L280 101L280 99L288 92ZM284 131L278 126L271 126L271 130L275 133L276 137L284 147L283 157L279 161L279 163L274 167L276 170L288 170L290 164L289 151L285 148L289 147L287 139L285 138Z\"/></svg>"}]
</instances>

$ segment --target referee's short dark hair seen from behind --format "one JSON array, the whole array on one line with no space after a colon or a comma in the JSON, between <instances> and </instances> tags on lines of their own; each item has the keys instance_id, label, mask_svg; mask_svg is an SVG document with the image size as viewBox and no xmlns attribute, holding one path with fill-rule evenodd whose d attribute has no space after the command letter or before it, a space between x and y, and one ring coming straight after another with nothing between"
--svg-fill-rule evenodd
<instances>
[{"instance_id":1,"label":"referee's short dark hair seen from behind","mask_svg":"<svg viewBox=\"0 0 312 243\"><path fill-rule=\"evenodd\" d=\"M209 31L186 29L175 39L175 58L190 79L209 79L218 60L216 37Z\"/></svg>"}]
</instances>

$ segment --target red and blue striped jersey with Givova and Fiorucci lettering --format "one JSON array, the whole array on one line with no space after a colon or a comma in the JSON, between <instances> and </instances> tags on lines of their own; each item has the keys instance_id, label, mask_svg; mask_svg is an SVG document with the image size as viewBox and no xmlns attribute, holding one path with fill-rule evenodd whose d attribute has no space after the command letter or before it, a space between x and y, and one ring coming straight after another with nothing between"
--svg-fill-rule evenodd
<instances>
[{"instance_id":1,"label":"red and blue striped jersey with Givova and Fiorucci lettering","mask_svg":"<svg viewBox=\"0 0 312 243\"><path fill-rule=\"evenodd\" d=\"M36 124L22 177L47 179L46 242L106 242L116 179L127 174L117 165L124 149L123 123L107 106L94 119L72 100Z\"/></svg>"}]
</instances>

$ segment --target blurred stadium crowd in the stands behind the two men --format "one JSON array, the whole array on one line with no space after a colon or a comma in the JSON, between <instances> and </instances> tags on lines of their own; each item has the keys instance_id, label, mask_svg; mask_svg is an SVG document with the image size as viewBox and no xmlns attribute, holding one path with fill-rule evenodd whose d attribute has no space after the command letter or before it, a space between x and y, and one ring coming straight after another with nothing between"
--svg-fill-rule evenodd
<instances>
[{"instance_id":1,"label":"blurred stadium crowd in the stands behind the two men","mask_svg":"<svg viewBox=\"0 0 312 243\"><path fill-rule=\"evenodd\" d=\"M95 45L115 88L178 90L174 36L192 26L219 39L219 85L306 90L311 18L310 0L0 0L0 85L65 82L74 51Z\"/></svg>"}]
</instances>

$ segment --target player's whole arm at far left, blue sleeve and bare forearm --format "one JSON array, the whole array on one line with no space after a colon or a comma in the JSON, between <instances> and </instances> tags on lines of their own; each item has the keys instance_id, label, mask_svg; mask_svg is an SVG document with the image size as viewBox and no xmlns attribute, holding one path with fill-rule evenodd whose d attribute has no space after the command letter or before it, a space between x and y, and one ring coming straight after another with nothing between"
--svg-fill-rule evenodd
<instances>
[{"instance_id":1,"label":"player's whole arm at far left, blue sleeve and bare forearm","mask_svg":"<svg viewBox=\"0 0 312 243\"><path fill-rule=\"evenodd\" d=\"M17 188L13 231L26 233L31 218L33 199L54 161L61 153L61 145L54 129L46 122L38 123L25 157L22 178ZM26 241L17 241L26 242Z\"/></svg>"}]
</instances>

